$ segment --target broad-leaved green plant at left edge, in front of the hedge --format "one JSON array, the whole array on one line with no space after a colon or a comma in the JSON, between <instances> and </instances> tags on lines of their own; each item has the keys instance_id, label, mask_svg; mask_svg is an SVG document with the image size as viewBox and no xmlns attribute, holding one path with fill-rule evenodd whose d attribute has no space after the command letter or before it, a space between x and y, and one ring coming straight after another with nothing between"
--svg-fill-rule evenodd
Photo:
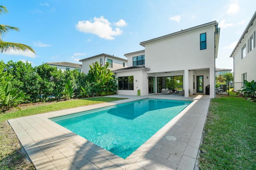
<instances>
[{"instance_id":1,"label":"broad-leaved green plant at left edge, in front of the hedge","mask_svg":"<svg viewBox=\"0 0 256 170\"><path fill-rule=\"evenodd\" d=\"M2 111L8 111L10 107L18 108L18 105L22 102L28 102L29 96L25 96L25 94L20 91L18 92L17 88L12 88L12 84L10 82L7 83L5 88L5 98L3 102L0 102ZM18 108L19 109L19 108Z\"/></svg>"}]
</instances>

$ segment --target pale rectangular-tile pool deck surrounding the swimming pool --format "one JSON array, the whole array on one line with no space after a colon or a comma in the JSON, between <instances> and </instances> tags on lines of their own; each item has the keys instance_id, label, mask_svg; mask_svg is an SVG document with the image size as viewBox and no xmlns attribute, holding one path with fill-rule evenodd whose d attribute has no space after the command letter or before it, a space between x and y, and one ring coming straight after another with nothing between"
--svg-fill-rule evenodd
<instances>
[{"instance_id":1,"label":"pale rectangular-tile pool deck surrounding the swimming pool","mask_svg":"<svg viewBox=\"0 0 256 170\"><path fill-rule=\"evenodd\" d=\"M210 98L153 94L113 95L116 102L10 119L21 145L37 170L194 170ZM142 98L194 100L126 159L94 145L48 118L112 106ZM177 140L167 140L166 136ZM175 139L175 138L174 138Z\"/></svg>"}]
</instances>

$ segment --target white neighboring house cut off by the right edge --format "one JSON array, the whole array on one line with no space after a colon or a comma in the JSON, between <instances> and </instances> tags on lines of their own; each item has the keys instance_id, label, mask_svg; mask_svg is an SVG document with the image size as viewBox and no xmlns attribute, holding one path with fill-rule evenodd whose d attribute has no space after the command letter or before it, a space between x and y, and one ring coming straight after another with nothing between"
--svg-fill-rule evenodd
<instances>
[{"instance_id":1,"label":"white neighboring house cut off by the right edge","mask_svg":"<svg viewBox=\"0 0 256 170\"><path fill-rule=\"evenodd\" d=\"M255 31L256 12L230 55L234 58L234 82L256 80Z\"/></svg>"}]
</instances>

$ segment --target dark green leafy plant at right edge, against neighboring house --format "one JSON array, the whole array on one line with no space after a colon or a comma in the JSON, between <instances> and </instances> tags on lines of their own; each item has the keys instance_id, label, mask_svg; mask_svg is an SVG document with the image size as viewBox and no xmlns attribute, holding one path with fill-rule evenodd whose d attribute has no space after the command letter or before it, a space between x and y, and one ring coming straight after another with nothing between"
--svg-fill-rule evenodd
<instances>
[{"instance_id":1,"label":"dark green leafy plant at right edge, against neighboring house","mask_svg":"<svg viewBox=\"0 0 256 170\"><path fill-rule=\"evenodd\" d=\"M251 82L244 80L244 87L242 87L241 90L237 90L236 92L237 95L239 93L244 94L245 98L256 98L256 82L254 82L254 80Z\"/></svg>"}]
</instances>

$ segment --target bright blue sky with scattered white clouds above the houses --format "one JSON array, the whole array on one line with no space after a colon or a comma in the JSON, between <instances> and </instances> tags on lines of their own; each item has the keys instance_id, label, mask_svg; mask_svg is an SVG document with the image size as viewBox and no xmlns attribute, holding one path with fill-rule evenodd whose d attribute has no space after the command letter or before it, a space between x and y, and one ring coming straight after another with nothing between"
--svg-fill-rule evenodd
<instances>
[{"instance_id":1,"label":"bright blue sky with scattered white clouds above the houses","mask_svg":"<svg viewBox=\"0 0 256 170\"><path fill-rule=\"evenodd\" d=\"M31 46L29 52L0 53L0 60L80 63L106 53L143 50L156 37L217 21L220 43L217 68L233 69L229 58L255 12L255 0L1 0L9 11L0 23L18 27L3 41Z\"/></svg>"}]
</instances>

